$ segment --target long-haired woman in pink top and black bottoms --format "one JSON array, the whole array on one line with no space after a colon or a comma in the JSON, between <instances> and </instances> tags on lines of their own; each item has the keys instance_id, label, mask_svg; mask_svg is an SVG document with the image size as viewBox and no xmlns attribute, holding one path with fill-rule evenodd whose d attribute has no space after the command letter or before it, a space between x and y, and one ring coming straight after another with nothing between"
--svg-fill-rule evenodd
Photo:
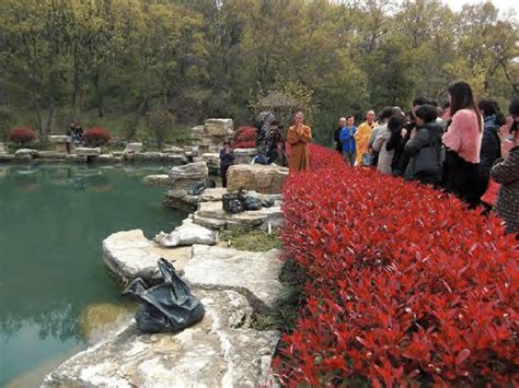
<instances>
[{"instance_id":1,"label":"long-haired woman in pink top and black bottoms","mask_svg":"<svg viewBox=\"0 0 519 388\"><path fill-rule=\"evenodd\" d=\"M448 93L452 120L442 137L447 151L443 185L473 209L486 189L478 166L483 117L466 82L454 83Z\"/></svg>"}]
</instances>

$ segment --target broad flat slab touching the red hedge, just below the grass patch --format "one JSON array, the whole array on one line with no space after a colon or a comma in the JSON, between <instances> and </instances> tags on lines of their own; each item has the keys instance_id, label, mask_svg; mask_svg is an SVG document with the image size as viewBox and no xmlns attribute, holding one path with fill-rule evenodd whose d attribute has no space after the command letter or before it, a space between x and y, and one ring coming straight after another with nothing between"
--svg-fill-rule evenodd
<instances>
[{"instance_id":1,"label":"broad flat slab touching the red hedge, just below the grass patch","mask_svg":"<svg viewBox=\"0 0 519 388\"><path fill-rule=\"evenodd\" d=\"M251 252L219 246L194 245L184 278L194 286L235 290L257 309L273 307L285 287L279 281L281 251Z\"/></svg>"}]
</instances>

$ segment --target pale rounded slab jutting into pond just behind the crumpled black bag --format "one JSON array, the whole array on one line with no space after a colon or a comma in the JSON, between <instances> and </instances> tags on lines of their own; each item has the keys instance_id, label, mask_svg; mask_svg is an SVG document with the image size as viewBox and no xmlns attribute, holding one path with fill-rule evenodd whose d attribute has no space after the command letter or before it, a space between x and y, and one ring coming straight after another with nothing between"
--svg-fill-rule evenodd
<instances>
[{"instance_id":1,"label":"pale rounded slab jutting into pond just behind the crumpled black bag","mask_svg":"<svg viewBox=\"0 0 519 388\"><path fill-rule=\"evenodd\" d=\"M191 247L168 249L146 238L141 230L118 232L103 240L103 260L123 283L135 278L145 281L158 272L157 261L163 257L176 270L183 270L191 257Z\"/></svg>"}]
</instances>

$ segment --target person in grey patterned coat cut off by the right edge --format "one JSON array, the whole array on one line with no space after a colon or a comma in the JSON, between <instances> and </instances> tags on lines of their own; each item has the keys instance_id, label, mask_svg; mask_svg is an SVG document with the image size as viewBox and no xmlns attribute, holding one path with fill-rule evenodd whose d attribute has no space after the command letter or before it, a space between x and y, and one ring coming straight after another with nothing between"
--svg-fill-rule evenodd
<instances>
[{"instance_id":1,"label":"person in grey patterned coat cut off by the right edge","mask_svg":"<svg viewBox=\"0 0 519 388\"><path fill-rule=\"evenodd\" d=\"M492 178L501 185L495 211L505 220L508 233L519 238L519 97L508 108L514 122L499 130L503 158L491 171Z\"/></svg>"}]
</instances>

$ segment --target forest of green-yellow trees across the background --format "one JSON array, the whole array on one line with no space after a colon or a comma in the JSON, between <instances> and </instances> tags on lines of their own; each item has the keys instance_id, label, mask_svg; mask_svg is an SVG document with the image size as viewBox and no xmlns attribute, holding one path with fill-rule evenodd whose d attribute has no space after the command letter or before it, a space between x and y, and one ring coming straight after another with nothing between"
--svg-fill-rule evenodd
<instances>
[{"instance_id":1,"label":"forest of green-yellow trees across the background","mask_svg":"<svg viewBox=\"0 0 519 388\"><path fill-rule=\"evenodd\" d=\"M489 2L457 13L437 0L1 0L0 126L45 136L154 110L178 126L246 125L281 91L325 142L339 116L442 103L459 80L505 108L518 40L517 15Z\"/></svg>"}]
</instances>

